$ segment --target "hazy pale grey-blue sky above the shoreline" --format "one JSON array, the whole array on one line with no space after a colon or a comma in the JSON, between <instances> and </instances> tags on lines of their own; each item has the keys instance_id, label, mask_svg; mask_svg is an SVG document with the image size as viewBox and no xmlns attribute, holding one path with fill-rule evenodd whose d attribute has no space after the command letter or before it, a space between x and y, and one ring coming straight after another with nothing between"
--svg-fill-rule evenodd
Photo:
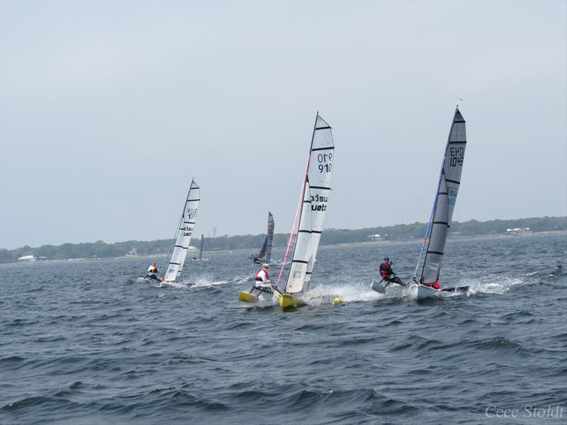
<instances>
[{"instance_id":1,"label":"hazy pale grey-blue sky above the shoreline","mask_svg":"<svg viewBox=\"0 0 567 425\"><path fill-rule=\"evenodd\" d=\"M0 246L289 232L315 113L325 227L567 214L567 2L1 1Z\"/></svg>"}]
</instances>

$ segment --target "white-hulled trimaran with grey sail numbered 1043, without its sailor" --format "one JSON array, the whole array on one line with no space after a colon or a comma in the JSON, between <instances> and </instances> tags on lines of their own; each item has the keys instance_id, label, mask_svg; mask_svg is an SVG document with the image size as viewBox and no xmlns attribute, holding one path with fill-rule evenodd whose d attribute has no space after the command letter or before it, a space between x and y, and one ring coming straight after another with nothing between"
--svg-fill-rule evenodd
<instances>
[{"instance_id":1,"label":"white-hulled trimaran with grey sail numbered 1043, without its sailor","mask_svg":"<svg viewBox=\"0 0 567 425\"><path fill-rule=\"evenodd\" d=\"M437 183L437 192L435 193L430 222L427 225L420 250L420 257L417 260L417 266L415 266L415 272L411 281L400 283L403 286L409 286L410 295L416 300L434 297L442 292L468 294L468 286L441 288L439 285L439 272L441 271L447 232L451 226L456 196L461 184L465 147L465 120L459 111L459 105L457 105L451 130L449 131L449 140L447 140L445 147L443 164L439 172L439 183ZM421 276L417 280L417 269L420 266L425 246L427 246L425 259L423 260ZM387 286L388 283L383 286L381 282L372 281L372 289L378 293L386 293Z\"/></svg>"}]
</instances>

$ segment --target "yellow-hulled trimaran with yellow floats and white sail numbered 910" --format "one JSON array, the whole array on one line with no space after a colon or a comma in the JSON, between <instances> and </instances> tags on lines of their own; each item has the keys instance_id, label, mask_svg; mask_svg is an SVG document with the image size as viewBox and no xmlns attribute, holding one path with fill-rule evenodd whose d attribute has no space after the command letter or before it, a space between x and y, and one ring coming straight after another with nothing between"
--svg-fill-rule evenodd
<instances>
[{"instance_id":1,"label":"yellow-hulled trimaran with yellow floats and white sail numbered 910","mask_svg":"<svg viewBox=\"0 0 567 425\"><path fill-rule=\"evenodd\" d=\"M293 220L293 227L290 233L286 254L279 271L278 280L272 286L276 295L277 303L282 309L291 307L301 307L307 302L305 293L309 288L311 273L315 266L315 259L321 239L327 201L331 191L331 175L333 166L333 154L335 145L332 140L331 127L323 120L319 113L315 118L315 127L311 137L307 166L301 185L301 198L296 210L296 217ZM290 251L291 242L296 232L296 223L299 216L299 225L296 237L296 244L293 249L291 267L286 280L286 285L281 290L279 283L286 266L286 261ZM244 302L259 302L259 297L252 295L252 290L248 293L240 292L238 299ZM260 294L262 296L262 294ZM332 303L337 305L341 302L340 298L335 298Z\"/></svg>"}]
</instances>

